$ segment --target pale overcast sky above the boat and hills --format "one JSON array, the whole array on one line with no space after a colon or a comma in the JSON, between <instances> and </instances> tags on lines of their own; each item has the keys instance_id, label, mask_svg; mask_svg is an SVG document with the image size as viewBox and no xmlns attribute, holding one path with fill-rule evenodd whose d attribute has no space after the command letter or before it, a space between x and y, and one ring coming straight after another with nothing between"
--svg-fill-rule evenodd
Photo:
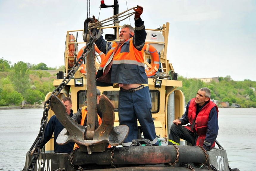
<instances>
[{"instance_id":1,"label":"pale overcast sky above the boat and hills","mask_svg":"<svg viewBox=\"0 0 256 171\"><path fill-rule=\"evenodd\" d=\"M179 75L256 81L255 0L119 0L119 12L137 5L144 7L146 28L170 23L167 59ZM113 15L112 8L99 6L100 0L91 0L91 17ZM83 29L87 0L0 0L0 16L0 58L59 67L66 32Z\"/></svg>"}]
</instances>

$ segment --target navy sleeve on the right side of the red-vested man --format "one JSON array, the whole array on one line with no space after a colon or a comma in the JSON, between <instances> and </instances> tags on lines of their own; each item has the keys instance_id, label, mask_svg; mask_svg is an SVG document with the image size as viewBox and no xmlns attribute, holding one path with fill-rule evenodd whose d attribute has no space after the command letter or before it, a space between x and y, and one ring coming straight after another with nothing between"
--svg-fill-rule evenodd
<instances>
[{"instance_id":1,"label":"navy sleeve on the right side of the red-vested man","mask_svg":"<svg viewBox=\"0 0 256 171\"><path fill-rule=\"evenodd\" d=\"M205 148L205 150L210 150L212 144L214 143L214 141L218 136L219 126L218 126L217 116L218 115L217 115L216 108L213 107L213 109L211 109L210 111L209 120L207 124L207 133L206 133L206 137L203 145L203 148Z\"/></svg>"}]
</instances>

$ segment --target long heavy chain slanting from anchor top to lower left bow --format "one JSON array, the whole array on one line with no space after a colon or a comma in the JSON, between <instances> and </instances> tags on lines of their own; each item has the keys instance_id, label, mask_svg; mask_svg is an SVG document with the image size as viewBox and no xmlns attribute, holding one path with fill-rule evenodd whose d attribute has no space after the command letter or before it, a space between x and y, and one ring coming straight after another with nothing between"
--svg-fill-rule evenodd
<instances>
[{"instance_id":1,"label":"long heavy chain slanting from anchor top to lower left bow","mask_svg":"<svg viewBox=\"0 0 256 171\"><path fill-rule=\"evenodd\" d=\"M36 163L36 160L38 159L38 156L40 154L40 146L41 146L41 144L43 142L44 130L45 130L46 123L47 123L48 111L50 110L50 106L51 106L51 97L53 95L56 95L56 96L59 95L60 91L73 78L74 74L77 72L78 68L80 67L80 65L85 60L85 57L87 56L88 52L93 47L93 42L96 39L96 36L95 36L96 34L95 33L96 32L94 31L93 34L90 36L90 40L89 40L88 43L86 43L86 47L85 47L85 50L84 50L83 54L77 60L75 65L72 67L72 69L69 71L68 75L62 80L60 85L55 90L53 90L53 92L51 93L50 97L44 103L43 117L41 119L40 131L39 131L38 137L35 139L35 142L33 143L32 147L29 150L30 152L33 150L33 152L31 152L31 156L32 157L31 157L31 161L30 161L29 167L27 168L27 171L33 171L35 169L35 163ZM87 49L89 49L89 50L87 50Z\"/></svg>"}]
</instances>

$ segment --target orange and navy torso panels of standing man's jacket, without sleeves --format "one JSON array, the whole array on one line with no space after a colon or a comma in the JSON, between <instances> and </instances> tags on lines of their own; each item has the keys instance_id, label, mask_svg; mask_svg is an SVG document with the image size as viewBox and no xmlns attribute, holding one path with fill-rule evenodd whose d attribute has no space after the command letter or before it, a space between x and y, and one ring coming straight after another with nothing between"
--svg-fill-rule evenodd
<instances>
[{"instance_id":1,"label":"orange and navy torso panels of standing man's jacket, without sleeves","mask_svg":"<svg viewBox=\"0 0 256 171\"><path fill-rule=\"evenodd\" d=\"M110 83L148 84L143 49L138 51L133 46L132 39L124 42L119 48L116 42L110 45L111 48L99 67L104 75L104 68L113 60ZM99 75L97 77L99 78Z\"/></svg>"}]
</instances>

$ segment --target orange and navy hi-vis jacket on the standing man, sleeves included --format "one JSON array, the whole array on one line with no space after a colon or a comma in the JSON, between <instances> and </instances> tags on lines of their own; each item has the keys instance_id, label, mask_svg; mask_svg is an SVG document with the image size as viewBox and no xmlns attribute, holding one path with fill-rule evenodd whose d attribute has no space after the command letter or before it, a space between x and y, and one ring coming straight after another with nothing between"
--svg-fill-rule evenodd
<instances>
[{"instance_id":1,"label":"orange and navy hi-vis jacket on the standing man, sleeves included","mask_svg":"<svg viewBox=\"0 0 256 171\"><path fill-rule=\"evenodd\" d=\"M139 18L135 20L134 36L127 39L121 46L120 42L106 42L102 36L95 41L100 51L106 54L98 69L96 75L97 81L109 84L148 84L143 64L143 46L145 40L146 31L144 22ZM109 74L109 79L102 79L102 77L108 74L105 70L109 65L111 67L109 71L111 75ZM106 85L101 85L97 82L97 86Z\"/></svg>"}]
</instances>

